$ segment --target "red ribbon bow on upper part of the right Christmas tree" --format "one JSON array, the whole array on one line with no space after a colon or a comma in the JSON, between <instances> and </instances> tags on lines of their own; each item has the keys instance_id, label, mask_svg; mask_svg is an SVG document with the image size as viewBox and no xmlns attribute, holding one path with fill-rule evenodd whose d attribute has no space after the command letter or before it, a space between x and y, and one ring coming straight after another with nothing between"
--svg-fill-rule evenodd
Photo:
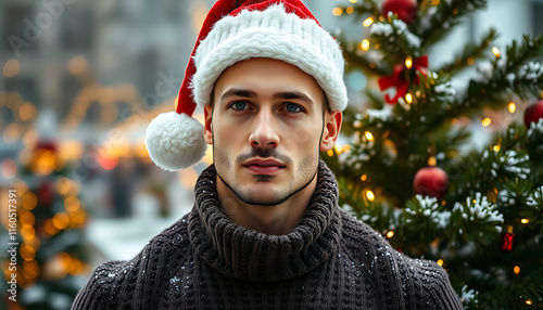
<instances>
[{"instance_id":1,"label":"red ribbon bow on upper part of the right Christmas tree","mask_svg":"<svg viewBox=\"0 0 543 310\"><path fill-rule=\"evenodd\" d=\"M422 55L413 61L413 67L415 67L416 72L421 73L426 76L426 72L428 68L428 55ZM379 79L379 88L386 90L391 87L396 88L396 95L394 98L390 98L390 94L384 95L384 101L390 104L396 103L401 96L404 96L407 92L407 88L409 87L408 80L405 77L405 70L408 70L407 67L403 65L396 65L394 67L394 73L392 76L382 77ZM415 76L415 83L419 83L418 75Z\"/></svg>"}]
</instances>

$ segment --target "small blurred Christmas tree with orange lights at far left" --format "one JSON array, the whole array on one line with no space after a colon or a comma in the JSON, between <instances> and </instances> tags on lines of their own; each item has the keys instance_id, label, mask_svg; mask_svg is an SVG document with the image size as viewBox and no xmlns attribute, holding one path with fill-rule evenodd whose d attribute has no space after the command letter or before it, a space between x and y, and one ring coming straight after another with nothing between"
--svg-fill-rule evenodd
<instances>
[{"instance_id":1,"label":"small blurred Christmas tree with orange lights at far left","mask_svg":"<svg viewBox=\"0 0 543 310\"><path fill-rule=\"evenodd\" d=\"M91 270L80 185L70 178L71 165L54 141L39 141L27 151L22 167L8 159L18 176L8 189L13 221L3 221L12 255L2 260L2 270L14 281L2 282L2 299L9 309L70 309L79 277Z\"/></svg>"}]
</instances>

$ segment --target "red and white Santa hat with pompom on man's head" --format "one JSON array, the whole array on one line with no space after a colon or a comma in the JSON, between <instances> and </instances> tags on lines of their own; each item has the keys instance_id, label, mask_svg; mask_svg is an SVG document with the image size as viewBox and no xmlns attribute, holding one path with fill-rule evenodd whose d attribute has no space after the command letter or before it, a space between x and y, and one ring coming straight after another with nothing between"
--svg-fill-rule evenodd
<instances>
[{"instance_id":1,"label":"red and white Santa hat with pompom on man's head","mask_svg":"<svg viewBox=\"0 0 543 310\"><path fill-rule=\"evenodd\" d=\"M147 129L147 150L157 166L176 171L200 162L207 145L192 113L210 104L226 68L252 57L296 66L315 78L331 111L346 107L341 49L300 0L218 0L187 65L176 111L156 116Z\"/></svg>"}]
</instances>

